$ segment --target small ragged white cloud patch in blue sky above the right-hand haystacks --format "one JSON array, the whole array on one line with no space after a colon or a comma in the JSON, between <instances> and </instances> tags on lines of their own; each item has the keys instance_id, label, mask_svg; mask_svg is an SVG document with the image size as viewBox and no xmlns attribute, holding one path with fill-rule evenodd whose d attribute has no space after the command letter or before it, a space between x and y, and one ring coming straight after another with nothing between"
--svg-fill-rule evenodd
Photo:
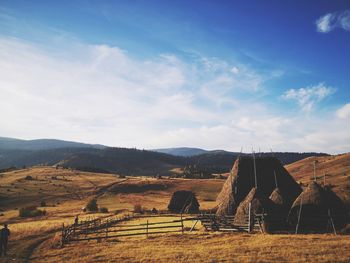
<instances>
[{"instance_id":1,"label":"small ragged white cloud patch in blue sky above the right-hand haystacks","mask_svg":"<svg viewBox=\"0 0 350 263\"><path fill-rule=\"evenodd\" d=\"M310 112L315 105L330 96L335 91L334 88L326 86L324 83L318 85L287 90L282 98L296 101L304 112Z\"/></svg>"}]
</instances>

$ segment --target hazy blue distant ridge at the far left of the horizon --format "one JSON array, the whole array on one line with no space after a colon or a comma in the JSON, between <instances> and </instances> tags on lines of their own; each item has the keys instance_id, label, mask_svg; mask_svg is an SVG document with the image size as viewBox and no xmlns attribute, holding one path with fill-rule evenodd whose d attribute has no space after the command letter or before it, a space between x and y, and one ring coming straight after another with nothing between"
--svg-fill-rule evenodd
<instances>
[{"instance_id":1,"label":"hazy blue distant ridge at the far left of the horizon","mask_svg":"<svg viewBox=\"0 0 350 263\"><path fill-rule=\"evenodd\" d=\"M99 144L86 144L80 142L71 142L55 139L37 139L37 140L20 140L13 138L0 137L0 149L6 150L47 150L59 148L106 148Z\"/></svg>"}]
</instances>

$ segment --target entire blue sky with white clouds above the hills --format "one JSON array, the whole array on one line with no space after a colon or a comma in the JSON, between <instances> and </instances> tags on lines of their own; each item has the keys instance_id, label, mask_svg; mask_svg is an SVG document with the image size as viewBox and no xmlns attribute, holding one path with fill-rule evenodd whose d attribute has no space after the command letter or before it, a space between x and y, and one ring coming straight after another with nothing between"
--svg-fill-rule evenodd
<instances>
[{"instance_id":1,"label":"entire blue sky with white clouds above the hills","mask_svg":"<svg viewBox=\"0 0 350 263\"><path fill-rule=\"evenodd\" d=\"M350 151L349 1L0 0L0 136Z\"/></svg>"}]
</instances>

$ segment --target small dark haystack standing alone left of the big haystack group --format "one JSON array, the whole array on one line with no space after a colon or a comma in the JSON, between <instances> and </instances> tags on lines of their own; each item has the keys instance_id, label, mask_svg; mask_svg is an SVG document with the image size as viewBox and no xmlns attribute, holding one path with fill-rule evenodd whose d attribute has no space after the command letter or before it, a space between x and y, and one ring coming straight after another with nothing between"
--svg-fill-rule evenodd
<instances>
[{"instance_id":1,"label":"small dark haystack standing alone left of the big haystack group","mask_svg":"<svg viewBox=\"0 0 350 263\"><path fill-rule=\"evenodd\" d=\"M170 199L168 209L173 213L198 213L199 203L193 192L176 191Z\"/></svg>"}]
</instances>

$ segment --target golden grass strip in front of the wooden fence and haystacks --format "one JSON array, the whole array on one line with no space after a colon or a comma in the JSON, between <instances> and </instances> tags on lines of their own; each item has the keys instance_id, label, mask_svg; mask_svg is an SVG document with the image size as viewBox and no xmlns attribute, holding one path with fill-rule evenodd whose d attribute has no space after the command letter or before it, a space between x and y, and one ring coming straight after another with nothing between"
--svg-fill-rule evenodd
<instances>
[{"instance_id":1,"label":"golden grass strip in front of the wooden fence and haystacks","mask_svg":"<svg viewBox=\"0 0 350 263\"><path fill-rule=\"evenodd\" d=\"M350 237L185 233L81 242L52 249L33 262L349 262Z\"/></svg>"}]
</instances>

